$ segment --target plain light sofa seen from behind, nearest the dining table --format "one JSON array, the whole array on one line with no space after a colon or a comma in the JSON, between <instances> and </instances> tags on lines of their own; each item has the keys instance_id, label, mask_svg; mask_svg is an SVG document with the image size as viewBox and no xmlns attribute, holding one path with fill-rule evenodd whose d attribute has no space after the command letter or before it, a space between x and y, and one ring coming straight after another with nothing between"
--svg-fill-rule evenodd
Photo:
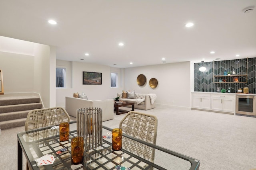
<instances>
[{"instance_id":1,"label":"plain light sofa seen from behind, nearest the dining table","mask_svg":"<svg viewBox=\"0 0 256 170\"><path fill-rule=\"evenodd\" d=\"M102 121L114 119L114 100L86 100L81 98L66 97L66 111L76 117L76 110L80 108L100 107L102 109Z\"/></svg>"}]
</instances>

